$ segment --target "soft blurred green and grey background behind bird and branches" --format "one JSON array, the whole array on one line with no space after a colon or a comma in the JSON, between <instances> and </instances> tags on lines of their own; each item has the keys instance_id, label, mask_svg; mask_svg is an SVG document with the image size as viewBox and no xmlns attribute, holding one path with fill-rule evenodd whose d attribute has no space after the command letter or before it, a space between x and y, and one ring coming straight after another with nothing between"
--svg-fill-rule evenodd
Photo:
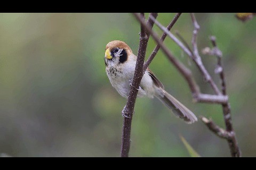
<instances>
[{"instance_id":1,"label":"soft blurred green and grey background behind bird and branches","mask_svg":"<svg viewBox=\"0 0 256 170\"><path fill-rule=\"evenodd\" d=\"M167 25L175 13L159 13ZM148 13L146 14L148 16ZM243 156L256 156L256 20L241 22L235 13L196 13L198 48L217 37L223 53L231 114ZM158 35L162 31L154 27ZM190 43L190 15L172 28ZM105 46L123 40L138 53L140 25L130 13L0 14L0 153L14 157L118 157L126 103L105 72ZM187 65L201 87L213 94L193 62L170 38L165 44ZM150 38L147 55L155 42ZM214 74L216 58L202 60ZM159 50L150 69L175 98L197 116L224 127L220 105L195 104L186 81ZM188 157L182 135L202 157L228 157L225 140L198 121L176 118L157 99L139 98L132 122L133 157Z\"/></svg>"}]
</instances>

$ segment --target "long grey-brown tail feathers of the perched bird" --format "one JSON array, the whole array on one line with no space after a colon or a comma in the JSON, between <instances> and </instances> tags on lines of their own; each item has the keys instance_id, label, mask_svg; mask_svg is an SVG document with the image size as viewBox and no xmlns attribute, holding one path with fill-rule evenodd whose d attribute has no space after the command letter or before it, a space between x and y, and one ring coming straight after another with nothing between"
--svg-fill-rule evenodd
<instances>
[{"instance_id":1,"label":"long grey-brown tail feathers of the perched bird","mask_svg":"<svg viewBox=\"0 0 256 170\"><path fill-rule=\"evenodd\" d=\"M161 92L161 95L158 95L157 98L162 101L165 106L170 108L176 116L182 118L184 121L186 121L186 123L189 124L197 121L197 118L193 112L191 112L186 106L182 105L180 101L175 99L164 89L162 90L163 93Z\"/></svg>"}]
</instances>

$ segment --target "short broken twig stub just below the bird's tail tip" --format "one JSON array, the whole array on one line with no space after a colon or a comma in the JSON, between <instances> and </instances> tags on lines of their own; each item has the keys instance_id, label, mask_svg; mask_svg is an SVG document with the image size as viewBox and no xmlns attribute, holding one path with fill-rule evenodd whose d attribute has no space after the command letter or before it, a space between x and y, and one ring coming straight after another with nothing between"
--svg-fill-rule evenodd
<instances>
[{"instance_id":1,"label":"short broken twig stub just below the bird's tail tip","mask_svg":"<svg viewBox=\"0 0 256 170\"><path fill-rule=\"evenodd\" d=\"M215 133L218 137L223 138L223 139L231 139L232 135L229 134L226 130L220 128L217 124L215 124L211 119L207 119L204 116L200 117L202 122L213 132Z\"/></svg>"}]
</instances>

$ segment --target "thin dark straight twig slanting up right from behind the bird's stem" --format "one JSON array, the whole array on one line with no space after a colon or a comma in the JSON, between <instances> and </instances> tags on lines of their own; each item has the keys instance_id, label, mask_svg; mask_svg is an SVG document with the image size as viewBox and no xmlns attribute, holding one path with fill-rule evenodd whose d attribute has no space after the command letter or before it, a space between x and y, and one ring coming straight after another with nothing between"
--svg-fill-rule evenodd
<instances>
[{"instance_id":1,"label":"thin dark straight twig slanting up right from behind the bird's stem","mask_svg":"<svg viewBox=\"0 0 256 170\"><path fill-rule=\"evenodd\" d=\"M174 25L174 24L176 23L176 21L179 19L180 15L181 15L181 13L177 13L177 14L174 16L174 18L172 19L171 23L166 27L167 30L169 30L169 31L171 30L171 28L173 27L173 25ZM155 23L156 17L149 15L149 19ZM164 41L164 39L166 38L166 36L167 36L167 34L166 34L166 32L164 32L163 35L162 35L162 37L161 37L161 41L162 41L162 42ZM156 54L157 54L159 48L160 48L160 46L157 44L156 47L155 47L155 49L154 49L153 52L151 53L151 55L148 57L147 62L146 62L146 63L144 64L144 66L143 66L143 71L144 71L144 72L146 71L147 67L148 67L149 64L152 62L152 60L154 59L154 57L156 56Z\"/></svg>"}]
</instances>

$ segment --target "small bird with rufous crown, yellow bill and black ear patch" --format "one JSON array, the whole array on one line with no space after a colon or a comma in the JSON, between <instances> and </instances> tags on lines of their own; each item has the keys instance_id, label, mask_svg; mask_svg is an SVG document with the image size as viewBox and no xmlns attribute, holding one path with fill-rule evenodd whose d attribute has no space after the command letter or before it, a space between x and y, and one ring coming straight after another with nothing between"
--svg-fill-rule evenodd
<instances>
[{"instance_id":1,"label":"small bird with rufous crown, yellow bill and black ear patch","mask_svg":"<svg viewBox=\"0 0 256 170\"><path fill-rule=\"evenodd\" d=\"M124 98L128 98L134 76L137 56L123 41L110 41L105 48L106 73L111 85ZM186 106L164 90L164 86L155 74L146 69L141 79L137 97L158 98L186 123L197 121L197 117ZM124 115L123 115L124 116ZM126 117L126 116L124 116Z\"/></svg>"}]
</instances>

